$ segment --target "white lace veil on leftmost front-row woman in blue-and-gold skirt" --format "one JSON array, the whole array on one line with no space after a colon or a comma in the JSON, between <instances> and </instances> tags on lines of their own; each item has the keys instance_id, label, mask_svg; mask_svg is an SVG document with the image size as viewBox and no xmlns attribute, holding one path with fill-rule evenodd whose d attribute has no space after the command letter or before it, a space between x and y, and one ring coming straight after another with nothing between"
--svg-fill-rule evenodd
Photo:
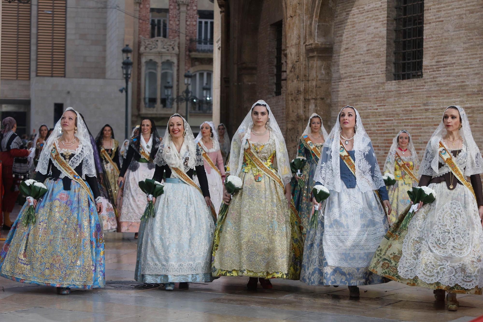
<instances>
[{"instance_id":1,"label":"white lace veil on leftmost front-row woman in blue-and-gold skirt","mask_svg":"<svg viewBox=\"0 0 483 322\"><path fill-rule=\"evenodd\" d=\"M96 166L94 163L94 150L92 149L89 131L85 126L84 120L82 119L79 112L75 111L72 107L67 108L65 112L73 111L77 115L77 133L75 137L79 140L79 147L77 148L76 154L69 160L69 165L75 169L82 161L82 177L85 176L96 176ZM43 175L47 175L47 170L49 167L49 160L52 158L50 151L52 150L52 145L57 142L62 136L62 128L60 126L61 119L59 119L54 127L54 132L52 132L47 139L47 143L43 146L42 152L39 157L39 163L37 163L37 168L35 171L39 171ZM52 160L52 163L60 170L60 177L68 176L58 165L56 161Z\"/></svg>"}]
</instances>

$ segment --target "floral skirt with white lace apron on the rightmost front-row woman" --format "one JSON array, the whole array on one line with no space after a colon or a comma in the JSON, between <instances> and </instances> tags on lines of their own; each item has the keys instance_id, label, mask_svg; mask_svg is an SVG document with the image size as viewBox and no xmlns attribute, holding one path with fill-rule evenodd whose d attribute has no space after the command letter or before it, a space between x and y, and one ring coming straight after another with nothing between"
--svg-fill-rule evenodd
<instances>
[{"instance_id":1,"label":"floral skirt with white lace apron on the rightmost front-row woman","mask_svg":"<svg viewBox=\"0 0 483 322\"><path fill-rule=\"evenodd\" d=\"M371 272L410 286L482 294L483 231L473 194L461 184L432 183L436 200L418 210L407 229L409 206L385 235Z\"/></svg>"}]
</instances>

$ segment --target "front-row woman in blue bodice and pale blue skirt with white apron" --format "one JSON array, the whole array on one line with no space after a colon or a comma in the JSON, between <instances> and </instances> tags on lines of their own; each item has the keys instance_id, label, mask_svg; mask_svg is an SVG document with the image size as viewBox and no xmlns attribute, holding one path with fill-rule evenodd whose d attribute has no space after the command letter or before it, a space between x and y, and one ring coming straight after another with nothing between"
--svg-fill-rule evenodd
<instances>
[{"instance_id":1,"label":"front-row woman in blue bodice and pale blue skirt with white apron","mask_svg":"<svg viewBox=\"0 0 483 322\"><path fill-rule=\"evenodd\" d=\"M350 160L342 161L346 151ZM353 164L353 172L346 165ZM384 283L369 271L369 263L389 225L391 204L374 148L357 110L342 108L324 143L315 181L330 190L322 204L317 229L308 227L300 280L308 285L347 285L359 296L357 285Z\"/></svg>"}]
</instances>

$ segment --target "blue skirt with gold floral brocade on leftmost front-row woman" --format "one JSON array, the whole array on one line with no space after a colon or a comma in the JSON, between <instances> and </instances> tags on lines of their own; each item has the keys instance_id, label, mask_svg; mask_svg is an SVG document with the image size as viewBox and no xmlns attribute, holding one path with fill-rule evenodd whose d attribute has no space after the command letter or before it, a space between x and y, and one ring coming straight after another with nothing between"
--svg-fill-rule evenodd
<instances>
[{"instance_id":1,"label":"blue skirt with gold floral brocade on leftmost front-row woman","mask_svg":"<svg viewBox=\"0 0 483 322\"><path fill-rule=\"evenodd\" d=\"M47 179L45 186L34 224L22 225L28 203L20 210L0 253L0 275L43 286L104 287L104 240L95 204L75 181L71 190L63 190L60 179Z\"/></svg>"}]
</instances>

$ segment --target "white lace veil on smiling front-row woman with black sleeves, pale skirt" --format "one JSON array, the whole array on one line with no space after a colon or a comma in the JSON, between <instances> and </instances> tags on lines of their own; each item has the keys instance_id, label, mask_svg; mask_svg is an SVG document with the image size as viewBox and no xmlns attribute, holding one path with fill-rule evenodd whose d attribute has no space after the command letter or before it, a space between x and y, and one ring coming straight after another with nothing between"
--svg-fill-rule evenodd
<instances>
[{"instance_id":1,"label":"white lace veil on smiling front-row woman with black sleeves, pale skirt","mask_svg":"<svg viewBox=\"0 0 483 322\"><path fill-rule=\"evenodd\" d=\"M181 146L180 152L174 146L170 135L170 120L172 117L181 117L183 119L183 126L185 128L185 141ZM191 127L185 118L179 114L173 114L168 120L166 131L161 146L156 153L156 159L154 161L158 166L168 164L170 167L176 167L184 169L188 172L189 169L194 169L197 165L203 165L203 159L201 157L201 151L199 146L195 143L195 136L191 131Z\"/></svg>"}]
</instances>

